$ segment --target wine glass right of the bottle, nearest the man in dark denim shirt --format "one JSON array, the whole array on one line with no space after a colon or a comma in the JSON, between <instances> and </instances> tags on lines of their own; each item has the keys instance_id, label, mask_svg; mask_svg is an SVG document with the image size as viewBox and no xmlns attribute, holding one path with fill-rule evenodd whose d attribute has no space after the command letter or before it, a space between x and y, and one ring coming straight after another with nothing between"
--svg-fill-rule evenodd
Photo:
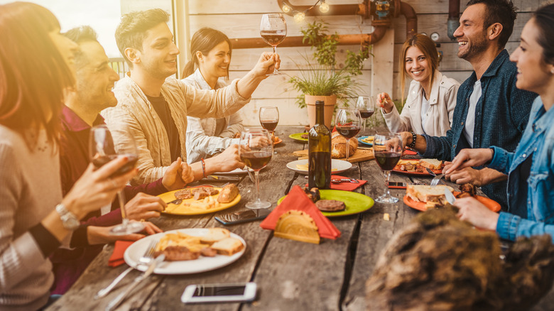
<instances>
[{"instance_id":1,"label":"wine glass right of the bottle, nearest the man in dark denim shirt","mask_svg":"<svg viewBox=\"0 0 554 311\"><path fill-rule=\"evenodd\" d=\"M375 199L379 203L396 203L398 197L392 197L389 190L391 170L402 156L403 141L400 133L379 132L373 139L373 154L375 161L385 174L385 193Z\"/></svg>"}]
</instances>

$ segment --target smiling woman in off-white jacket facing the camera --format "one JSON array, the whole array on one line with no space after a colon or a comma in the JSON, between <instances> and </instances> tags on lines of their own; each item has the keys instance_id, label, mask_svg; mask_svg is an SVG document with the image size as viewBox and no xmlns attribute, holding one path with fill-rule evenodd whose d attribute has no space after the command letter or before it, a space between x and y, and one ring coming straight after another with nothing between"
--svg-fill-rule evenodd
<instances>
[{"instance_id":1,"label":"smiling woman in off-white jacket facing the camera","mask_svg":"<svg viewBox=\"0 0 554 311\"><path fill-rule=\"evenodd\" d=\"M393 132L445 136L452 124L460 83L438 71L435 43L421 34L408 38L402 46L400 64L402 99L406 75L412 82L401 114L389 94L377 95L377 105L381 107L386 126Z\"/></svg>"}]
</instances>

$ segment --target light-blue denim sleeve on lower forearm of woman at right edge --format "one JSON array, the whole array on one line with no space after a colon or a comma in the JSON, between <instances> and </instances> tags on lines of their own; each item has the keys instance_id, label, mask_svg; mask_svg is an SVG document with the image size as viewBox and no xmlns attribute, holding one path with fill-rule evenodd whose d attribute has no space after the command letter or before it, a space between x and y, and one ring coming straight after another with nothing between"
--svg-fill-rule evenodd
<instances>
[{"instance_id":1,"label":"light-blue denim sleeve on lower forearm of woman at right edge","mask_svg":"<svg viewBox=\"0 0 554 311\"><path fill-rule=\"evenodd\" d=\"M510 241L516 241L519 236L537 236L543 234L550 234L550 238L552 238L554 236L554 224L535 222L513 214L501 212L498 223L496 224L496 233L502 239Z\"/></svg>"}]
</instances>

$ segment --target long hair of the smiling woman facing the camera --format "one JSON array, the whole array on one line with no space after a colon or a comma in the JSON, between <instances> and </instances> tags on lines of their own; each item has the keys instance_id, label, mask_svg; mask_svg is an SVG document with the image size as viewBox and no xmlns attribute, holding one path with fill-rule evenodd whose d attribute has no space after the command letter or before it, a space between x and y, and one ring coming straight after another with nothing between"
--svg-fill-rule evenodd
<instances>
[{"instance_id":1,"label":"long hair of the smiling woman facing the camera","mask_svg":"<svg viewBox=\"0 0 554 311\"><path fill-rule=\"evenodd\" d=\"M435 46L435 42L433 42L431 38L420 33L415 33L415 35L407 38L402 45L402 50L400 51L400 62L398 62L398 64L400 65L399 72L402 90L402 102L404 102L404 91L406 90L406 51L408 51L408 48L412 46L420 49L429 62L429 66L431 68L430 84L433 84L433 80L435 79L435 72L437 72L438 68L437 47Z\"/></svg>"}]
</instances>

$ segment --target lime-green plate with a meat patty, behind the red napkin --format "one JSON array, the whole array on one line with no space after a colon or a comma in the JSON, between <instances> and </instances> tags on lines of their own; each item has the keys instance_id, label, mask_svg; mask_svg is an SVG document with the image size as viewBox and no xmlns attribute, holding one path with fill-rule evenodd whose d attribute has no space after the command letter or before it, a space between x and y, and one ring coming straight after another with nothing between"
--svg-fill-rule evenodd
<instances>
[{"instance_id":1,"label":"lime-green plate with a meat patty, behind the red napkin","mask_svg":"<svg viewBox=\"0 0 554 311\"><path fill-rule=\"evenodd\" d=\"M321 212L321 214L326 217L339 217L358 214L370 209L374 204L374 201L373 199L371 199L371 197L362 195L358 192L343 190L320 190L320 195L322 200L342 201L347 206L344 211L340 212ZM281 204L285 197L281 197L277 201L277 204Z\"/></svg>"}]
</instances>

